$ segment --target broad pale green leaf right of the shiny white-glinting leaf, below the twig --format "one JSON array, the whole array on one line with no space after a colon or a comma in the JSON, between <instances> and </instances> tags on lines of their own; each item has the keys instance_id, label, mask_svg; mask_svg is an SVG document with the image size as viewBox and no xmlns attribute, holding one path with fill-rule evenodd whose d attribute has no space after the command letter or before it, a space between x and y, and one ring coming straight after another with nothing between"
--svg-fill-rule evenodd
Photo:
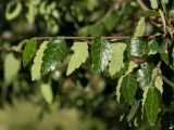
<instances>
[{"instance_id":1,"label":"broad pale green leaf right of the shiny white-glinting leaf, below the twig","mask_svg":"<svg viewBox=\"0 0 174 130\"><path fill-rule=\"evenodd\" d=\"M112 48L112 54L111 54L111 63L109 64L109 73L111 76L114 76L116 73L121 70L121 68L124 67L123 58L126 44L117 42L113 43L111 48Z\"/></svg>"}]
</instances>

